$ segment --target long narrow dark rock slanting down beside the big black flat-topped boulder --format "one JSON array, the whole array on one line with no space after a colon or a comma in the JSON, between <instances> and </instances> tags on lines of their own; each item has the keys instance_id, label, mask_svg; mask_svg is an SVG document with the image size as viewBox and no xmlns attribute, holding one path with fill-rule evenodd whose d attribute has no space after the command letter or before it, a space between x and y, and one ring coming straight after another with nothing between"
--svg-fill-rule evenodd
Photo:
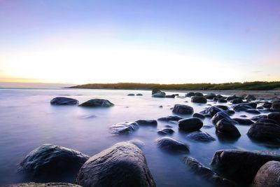
<instances>
[{"instance_id":1,"label":"long narrow dark rock slanting down beside the big black flat-topped boulder","mask_svg":"<svg viewBox=\"0 0 280 187\"><path fill-rule=\"evenodd\" d=\"M209 167L205 167L195 158L186 156L183 158L183 162L190 167L192 172L200 176L202 179L214 184L214 186L235 186L234 183L228 181L228 179L223 179L221 176L218 176L216 172L212 171Z\"/></svg>"}]
</instances>

